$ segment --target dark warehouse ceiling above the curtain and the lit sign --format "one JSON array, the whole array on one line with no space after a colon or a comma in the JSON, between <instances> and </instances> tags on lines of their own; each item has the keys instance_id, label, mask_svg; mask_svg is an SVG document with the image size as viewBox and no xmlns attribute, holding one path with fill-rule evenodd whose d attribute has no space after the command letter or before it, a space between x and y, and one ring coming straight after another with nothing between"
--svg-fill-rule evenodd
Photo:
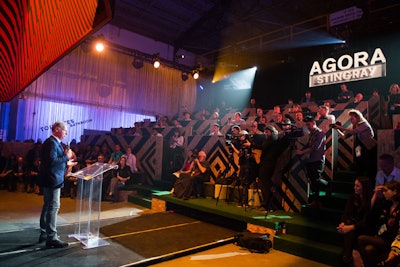
<instances>
[{"instance_id":1,"label":"dark warehouse ceiling above the curtain and the lit sign","mask_svg":"<svg viewBox=\"0 0 400 267\"><path fill-rule=\"evenodd\" d=\"M370 38L400 26L397 0L115 0L114 5L111 24L212 59Z\"/></svg>"}]
</instances>

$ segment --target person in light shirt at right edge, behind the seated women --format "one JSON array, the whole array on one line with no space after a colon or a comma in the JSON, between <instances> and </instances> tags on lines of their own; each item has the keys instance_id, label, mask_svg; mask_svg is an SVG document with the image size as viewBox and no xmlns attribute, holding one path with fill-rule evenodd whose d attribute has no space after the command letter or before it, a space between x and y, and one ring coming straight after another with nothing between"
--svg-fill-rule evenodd
<instances>
[{"instance_id":1,"label":"person in light shirt at right edge, behind the seated women","mask_svg":"<svg viewBox=\"0 0 400 267\"><path fill-rule=\"evenodd\" d=\"M400 183L400 169L394 166L394 158L389 154L382 154L379 156L379 171L375 177L375 187L384 185L390 181Z\"/></svg>"}]
</instances>

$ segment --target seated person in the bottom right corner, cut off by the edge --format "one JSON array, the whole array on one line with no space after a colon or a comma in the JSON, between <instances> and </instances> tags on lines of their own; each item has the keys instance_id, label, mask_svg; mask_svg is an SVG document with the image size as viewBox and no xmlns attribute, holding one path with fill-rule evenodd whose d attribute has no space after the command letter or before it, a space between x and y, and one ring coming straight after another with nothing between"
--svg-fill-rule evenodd
<instances>
[{"instance_id":1,"label":"seated person in the bottom right corner, cut off by the edge","mask_svg":"<svg viewBox=\"0 0 400 267\"><path fill-rule=\"evenodd\" d=\"M384 199L379 201L376 195L382 192ZM386 259L390 245L399 231L400 220L400 184L388 182L375 188L371 199L371 219L368 220L370 229L377 229L369 235L358 237L358 251L365 267L376 267Z\"/></svg>"}]
</instances>

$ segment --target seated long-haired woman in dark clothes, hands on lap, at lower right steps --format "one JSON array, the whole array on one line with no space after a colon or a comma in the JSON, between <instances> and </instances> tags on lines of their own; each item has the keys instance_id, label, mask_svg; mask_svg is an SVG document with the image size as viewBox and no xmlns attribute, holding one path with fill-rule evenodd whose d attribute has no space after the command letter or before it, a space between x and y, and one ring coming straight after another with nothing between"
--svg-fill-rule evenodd
<instances>
[{"instance_id":1,"label":"seated long-haired woman in dark clothes, hands on lap, at lower right steps","mask_svg":"<svg viewBox=\"0 0 400 267\"><path fill-rule=\"evenodd\" d=\"M357 248L357 238L368 234L367 216L371 208L372 185L368 177L358 177L354 181L354 193L347 200L343 216L337 226L343 235L343 266L353 266L353 249Z\"/></svg>"}]
</instances>

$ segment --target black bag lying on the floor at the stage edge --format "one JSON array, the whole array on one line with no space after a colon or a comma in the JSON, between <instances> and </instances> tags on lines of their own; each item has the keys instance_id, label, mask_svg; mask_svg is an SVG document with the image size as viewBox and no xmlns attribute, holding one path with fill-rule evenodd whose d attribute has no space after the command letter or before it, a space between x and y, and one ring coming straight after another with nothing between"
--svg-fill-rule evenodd
<instances>
[{"instance_id":1,"label":"black bag lying on the floor at the stage edge","mask_svg":"<svg viewBox=\"0 0 400 267\"><path fill-rule=\"evenodd\" d=\"M272 248L272 242L268 235L243 232L235 236L236 245L255 253L268 253Z\"/></svg>"}]
</instances>

